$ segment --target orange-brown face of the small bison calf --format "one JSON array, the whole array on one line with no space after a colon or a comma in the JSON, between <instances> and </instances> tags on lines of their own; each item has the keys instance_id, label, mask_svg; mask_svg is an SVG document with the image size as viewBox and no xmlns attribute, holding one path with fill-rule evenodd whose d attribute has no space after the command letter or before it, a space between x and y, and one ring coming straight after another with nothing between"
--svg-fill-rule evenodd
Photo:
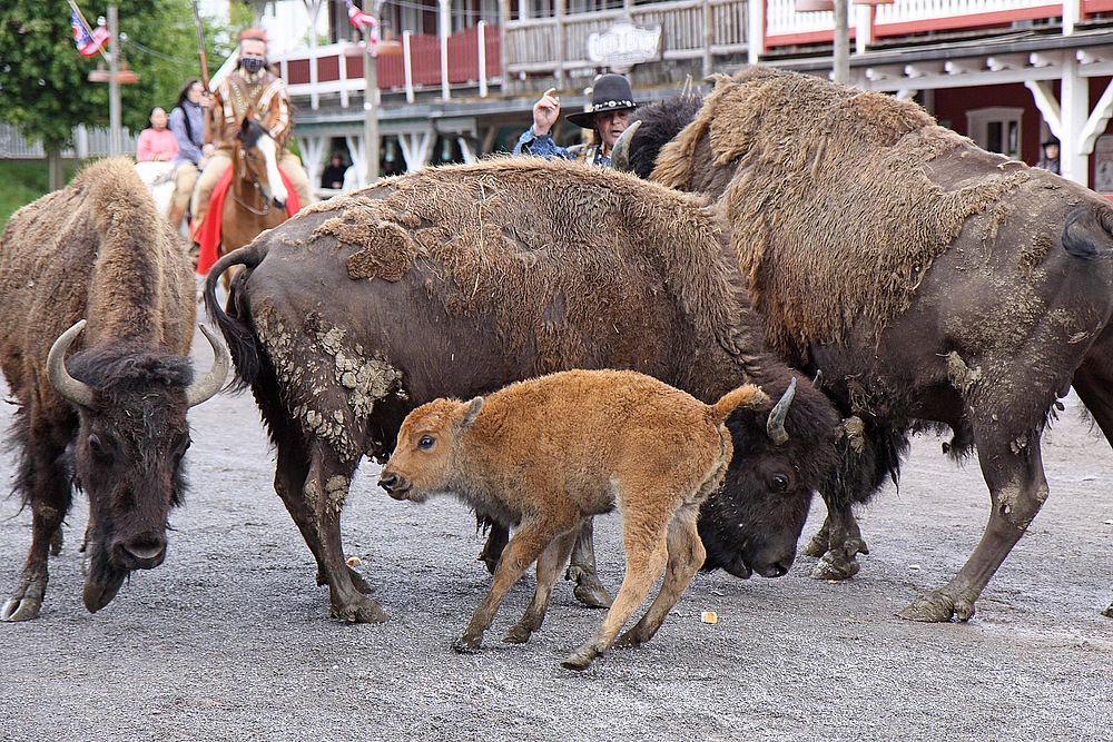
<instances>
[{"instance_id":1,"label":"orange-brown face of the small bison calf","mask_svg":"<svg viewBox=\"0 0 1113 742\"><path fill-rule=\"evenodd\" d=\"M413 410L398 431L398 443L383 467L378 486L394 499L423 503L449 488L460 432L475 419L483 399L434 399Z\"/></svg>"}]
</instances>

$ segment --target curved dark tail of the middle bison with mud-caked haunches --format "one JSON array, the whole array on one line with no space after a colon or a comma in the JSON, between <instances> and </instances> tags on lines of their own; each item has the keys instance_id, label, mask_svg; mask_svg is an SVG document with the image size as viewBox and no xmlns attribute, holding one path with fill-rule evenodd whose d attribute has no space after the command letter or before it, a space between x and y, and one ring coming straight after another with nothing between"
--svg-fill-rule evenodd
<instances>
[{"instance_id":1,"label":"curved dark tail of the middle bison with mud-caked haunches","mask_svg":"<svg viewBox=\"0 0 1113 742\"><path fill-rule=\"evenodd\" d=\"M237 280L233 281L232 295L228 297L228 306L233 308L232 315L220 307L216 298L216 287L220 275L232 266L245 266L252 270L258 267L265 257L266 248L263 243L256 240L221 257L205 278L205 310L220 328L228 344L228 353L232 354L232 360L236 365L236 380L232 388L237 392L250 386L259 373L259 349L249 324L250 315L247 311L246 297L242 296L245 276L240 274Z\"/></svg>"}]
</instances>

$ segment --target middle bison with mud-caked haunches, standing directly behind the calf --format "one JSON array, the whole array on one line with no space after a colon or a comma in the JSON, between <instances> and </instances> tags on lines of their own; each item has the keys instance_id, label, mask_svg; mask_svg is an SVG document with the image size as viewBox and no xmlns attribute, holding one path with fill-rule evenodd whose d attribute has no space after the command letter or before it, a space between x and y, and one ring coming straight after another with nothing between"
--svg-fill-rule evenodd
<instances>
[{"instance_id":1,"label":"middle bison with mud-caked haunches, standing directly behind the calf","mask_svg":"<svg viewBox=\"0 0 1113 742\"><path fill-rule=\"evenodd\" d=\"M221 258L206 307L268 425L275 489L332 614L386 617L341 546L361 458L385 461L406 414L435 397L573 367L639 370L706 402L746 382L774 399L796 387L771 432L768 406L730 417L735 461L700 521L708 567L782 574L834 463L838 417L758 352L731 260L693 197L534 158L390 179ZM237 265L225 314L217 280Z\"/></svg>"}]
</instances>

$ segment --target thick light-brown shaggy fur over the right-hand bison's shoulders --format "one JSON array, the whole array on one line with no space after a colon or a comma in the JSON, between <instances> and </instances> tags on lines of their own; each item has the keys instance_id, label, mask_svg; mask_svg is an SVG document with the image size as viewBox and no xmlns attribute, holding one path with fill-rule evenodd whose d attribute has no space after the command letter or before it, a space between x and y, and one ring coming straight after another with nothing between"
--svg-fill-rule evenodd
<instances>
[{"instance_id":1,"label":"thick light-brown shaggy fur over the right-hand bison's shoulders","mask_svg":"<svg viewBox=\"0 0 1113 742\"><path fill-rule=\"evenodd\" d=\"M1033 178L1023 164L981 152L995 171L940 181L927 164L973 156L973 142L884 93L762 67L715 81L652 178L723 195L755 306L770 340L796 358L809 343L844 339L859 317L884 327L966 219ZM697 168L706 147L725 170Z\"/></svg>"}]
</instances>

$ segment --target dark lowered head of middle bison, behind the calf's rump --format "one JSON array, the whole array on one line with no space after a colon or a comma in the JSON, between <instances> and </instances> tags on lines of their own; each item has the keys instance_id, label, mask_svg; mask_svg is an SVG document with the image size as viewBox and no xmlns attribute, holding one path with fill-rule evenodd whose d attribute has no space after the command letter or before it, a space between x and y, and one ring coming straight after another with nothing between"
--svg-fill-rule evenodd
<instances>
[{"instance_id":1,"label":"dark lowered head of middle bison, behind the calf's rump","mask_svg":"<svg viewBox=\"0 0 1113 742\"><path fill-rule=\"evenodd\" d=\"M779 577L792 565L812 493L837 459L839 421L807 380L794 395L792 378L757 379L770 397L780 398L779 409L741 408L727 419L735 454L722 487L700 509L705 570Z\"/></svg>"}]
</instances>

